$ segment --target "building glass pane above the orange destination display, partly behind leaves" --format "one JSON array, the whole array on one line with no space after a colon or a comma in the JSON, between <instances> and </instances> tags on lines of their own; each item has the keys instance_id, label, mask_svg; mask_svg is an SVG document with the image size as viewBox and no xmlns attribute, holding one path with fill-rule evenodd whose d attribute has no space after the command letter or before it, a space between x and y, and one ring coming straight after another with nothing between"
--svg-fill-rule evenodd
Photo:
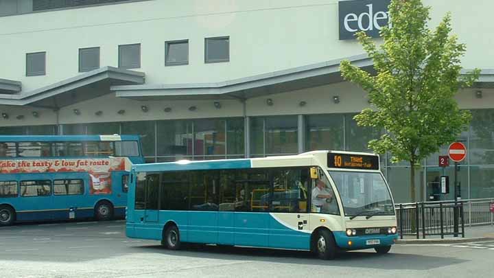
<instances>
[{"instance_id":1,"label":"building glass pane above the orange destination display, partly behind leaves","mask_svg":"<svg viewBox=\"0 0 494 278\"><path fill-rule=\"evenodd\" d=\"M381 130L368 126L359 126L353 119L356 114L345 115L346 150L351 152L373 152L368 148L368 141L379 139Z\"/></svg>"}]
</instances>

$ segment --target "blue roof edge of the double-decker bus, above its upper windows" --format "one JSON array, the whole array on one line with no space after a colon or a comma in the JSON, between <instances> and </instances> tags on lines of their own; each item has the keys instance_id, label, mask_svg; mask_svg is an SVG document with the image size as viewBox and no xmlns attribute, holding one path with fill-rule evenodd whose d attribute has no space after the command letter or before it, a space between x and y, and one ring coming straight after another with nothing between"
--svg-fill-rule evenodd
<instances>
[{"instance_id":1,"label":"blue roof edge of the double-decker bus, above its upper windows","mask_svg":"<svg viewBox=\"0 0 494 278\"><path fill-rule=\"evenodd\" d=\"M0 135L0 142L137 141L139 135Z\"/></svg>"}]
</instances>

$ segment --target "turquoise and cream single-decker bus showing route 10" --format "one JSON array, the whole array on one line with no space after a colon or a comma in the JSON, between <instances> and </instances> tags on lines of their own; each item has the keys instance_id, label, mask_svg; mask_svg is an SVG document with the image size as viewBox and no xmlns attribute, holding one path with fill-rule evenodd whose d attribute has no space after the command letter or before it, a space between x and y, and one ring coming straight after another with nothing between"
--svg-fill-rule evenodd
<instances>
[{"instance_id":1,"label":"turquoise and cream single-decker bus showing route 10","mask_svg":"<svg viewBox=\"0 0 494 278\"><path fill-rule=\"evenodd\" d=\"M126 234L181 242L314 251L375 248L397 240L379 157L314 151L286 157L133 165Z\"/></svg>"}]
</instances>

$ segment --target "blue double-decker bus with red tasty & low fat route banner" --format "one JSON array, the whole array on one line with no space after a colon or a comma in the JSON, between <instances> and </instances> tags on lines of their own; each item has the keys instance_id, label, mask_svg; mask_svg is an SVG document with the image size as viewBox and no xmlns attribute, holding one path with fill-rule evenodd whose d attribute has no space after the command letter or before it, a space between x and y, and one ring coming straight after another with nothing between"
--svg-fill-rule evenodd
<instances>
[{"instance_id":1,"label":"blue double-decker bus with red tasty & low fat route banner","mask_svg":"<svg viewBox=\"0 0 494 278\"><path fill-rule=\"evenodd\" d=\"M0 136L0 226L124 216L137 135Z\"/></svg>"}]
</instances>

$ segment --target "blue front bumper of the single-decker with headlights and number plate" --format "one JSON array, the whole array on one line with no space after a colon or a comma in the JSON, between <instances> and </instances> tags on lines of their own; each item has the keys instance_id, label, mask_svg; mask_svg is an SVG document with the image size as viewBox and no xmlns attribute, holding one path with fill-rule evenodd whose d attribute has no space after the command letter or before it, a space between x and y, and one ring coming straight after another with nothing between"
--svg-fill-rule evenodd
<instances>
[{"instance_id":1,"label":"blue front bumper of the single-decker with headlights and number plate","mask_svg":"<svg viewBox=\"0 0 494 278\"><path fill-rule=\"evenodd\" d=\"M344 231L334 231L336 245L344 250L359 250L395 244L398 235L357 235L349 237Z\"/></svg>"}]
</instances>

